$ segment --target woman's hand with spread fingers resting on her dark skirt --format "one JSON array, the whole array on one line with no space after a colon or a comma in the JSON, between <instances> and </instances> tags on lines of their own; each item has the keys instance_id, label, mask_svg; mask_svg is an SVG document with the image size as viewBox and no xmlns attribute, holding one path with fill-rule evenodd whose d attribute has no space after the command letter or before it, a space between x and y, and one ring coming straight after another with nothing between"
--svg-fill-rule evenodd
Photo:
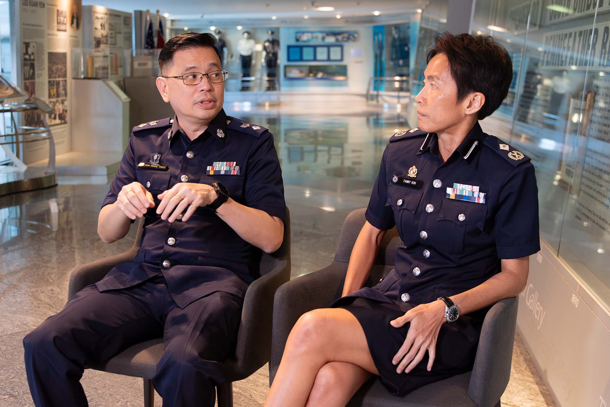
<instances>
[{"instance_id":1,"label":"woman's hand with spread fingers resting on her dark skirt","mask_svg":"<svg viewBox=\"0 0 610 407\"><path fill-rule=\"evenodd\" d=\"M445 321L445 303L436 300L428 304L420 304L410 309L402 317L390 322L395 328L400 328L405 323L411 322L403 346L400 347L392 359L392 364L400 362L396 369L397 373L401 373L403 370L404 373L411 372L422 361L426 355L426 350L429 354L428 372L432 369L432 363L436 355L436 340L439 337L440 326Z\"/></svg>"}]
</instances>

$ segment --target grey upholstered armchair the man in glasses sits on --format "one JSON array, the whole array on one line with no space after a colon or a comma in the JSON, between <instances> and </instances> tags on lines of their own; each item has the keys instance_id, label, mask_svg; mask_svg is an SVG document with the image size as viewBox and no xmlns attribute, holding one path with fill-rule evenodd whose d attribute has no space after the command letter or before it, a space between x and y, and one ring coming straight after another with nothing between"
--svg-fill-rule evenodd
<instances>
[{"instance_id":1,"label":"grey upholstered armchair the man in glasses sits on","mask_svg":"<svg viewBox=\"0 0 610 407\"><path fill-rule=\"evenodd\" d=\"M82 265L70 275L68 300L84 287L96 283L120 262L132 261L140 248L144 220L140 220L134 246L123 254L110 256ZM246 291L242 323L237 334L235 355L223 363L227 383L217 387L218 407L233 405L232 382L242 380L269 361L271 353L271 316L273 296L283 283L290 279L290 213L286 208L284 242L272 254L262 253L258 265L260 278ZM163 339L152 339L127 348L117 356L89 369L144 379L144 405L154 405L154 388L151 378L163 354Z\"/></svg>"}]
</instances>

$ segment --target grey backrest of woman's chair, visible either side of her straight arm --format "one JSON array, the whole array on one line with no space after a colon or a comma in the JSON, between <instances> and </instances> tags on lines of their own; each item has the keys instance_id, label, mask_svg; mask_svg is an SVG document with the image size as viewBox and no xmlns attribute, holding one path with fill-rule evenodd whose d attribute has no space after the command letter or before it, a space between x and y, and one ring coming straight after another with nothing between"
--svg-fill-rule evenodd
<instances>
[{"instance_id":1,"label":"grey backrest of woman's chair, visible either side of her straight arm","mask_svg":"<svg viewBox=\"0 0 610 407\"><path fill-rule=\"evenodd\" d=\"M343 222L334 262L336 262L344 272L347 271L351 251L354 248L358 234L366 221L364 217L365 212L365 208L351 211ZM396 254L398 247L402 244L403 242L398 236L396 227L386 232L386 235L381 242L381 246L379 247L379 252L377 253L373 268L371 269L371 274L367 280L367 286L377 284L381 277L387 275L387 273L392 270L394 266L394 255Z\"/></svg>"}]
</instances>

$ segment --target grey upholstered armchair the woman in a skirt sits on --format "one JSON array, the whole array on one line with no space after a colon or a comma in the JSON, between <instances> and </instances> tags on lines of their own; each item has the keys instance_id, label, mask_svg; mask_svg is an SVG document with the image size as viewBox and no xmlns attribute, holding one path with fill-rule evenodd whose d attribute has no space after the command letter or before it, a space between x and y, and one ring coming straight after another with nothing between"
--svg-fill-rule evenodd
<instances>
[{"instance_id":1,"label":"grey upholstered armchair the woman in a skirt sits on","mask_svg":"<svg viewBox=\"0 0 610 407\"><path fill-rule=\"evenodd\" d=\"M364 209L351 212L343 223L335 259L328 267L293 279L279 287L273 307L273 344L270 383L278 370L286 340L296 320L307 311L325 308L339 298L351 250L364 225ZM401 245L396 228L388 231L371 270L372 286L392 270L394 253ZM500 396L511 375L512 345L517 320L517 298L501 300L487 313L472 372L421 387L406 397L395 397L371 378L349 406L500 406Z\"/></svg>"}]
</instances>

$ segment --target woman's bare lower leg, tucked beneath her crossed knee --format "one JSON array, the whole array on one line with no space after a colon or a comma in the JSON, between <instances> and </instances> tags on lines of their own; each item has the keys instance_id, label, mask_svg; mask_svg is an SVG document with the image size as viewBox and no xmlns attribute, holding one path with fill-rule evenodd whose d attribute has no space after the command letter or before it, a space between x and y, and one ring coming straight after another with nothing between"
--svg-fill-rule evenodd
<instances>
[{"instance_id":1,"label":"woman's bare lower leg, tucked beneath her crossed knee","mask_svg":"<svg viewBox=\"0 0 610 407\"><path fill-rule=\"evenodd\" d=\"M345 407L371 373L348 362L328 362L318 370L306 407Z\"/></svg>"}]
</instances>

